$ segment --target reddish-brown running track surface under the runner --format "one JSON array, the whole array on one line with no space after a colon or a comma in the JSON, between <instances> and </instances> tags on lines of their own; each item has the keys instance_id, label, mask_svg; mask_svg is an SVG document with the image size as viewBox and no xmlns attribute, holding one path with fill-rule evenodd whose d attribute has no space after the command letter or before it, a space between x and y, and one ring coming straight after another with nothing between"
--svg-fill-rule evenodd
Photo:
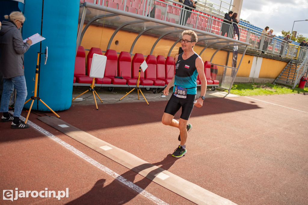
<instances>
[{"instance_id":1,"label":"reddish-brown running track surface under the runner","mask_svg":"<svg viewBox=\"0 0 308 205\"><path fill-rule=\"evenodd\" d=\"M179 144L179 131L160 121L165 105L166 101L150 106L144 101L98 104L99 110L95 104L75 105L57 114L67 123L234 203L307 204L307 95L207 98L204 106L194 108L191 114L188 152L180 159L170 155ZM192 204L36 118L31 113L29 120L164 202ZM9 122L0 123L0 141L2 190L48 188L57 192L69 188L69 198L29 197L14 203L154 204L32 127L14 130Z\"/></svg>"}]
</instances>

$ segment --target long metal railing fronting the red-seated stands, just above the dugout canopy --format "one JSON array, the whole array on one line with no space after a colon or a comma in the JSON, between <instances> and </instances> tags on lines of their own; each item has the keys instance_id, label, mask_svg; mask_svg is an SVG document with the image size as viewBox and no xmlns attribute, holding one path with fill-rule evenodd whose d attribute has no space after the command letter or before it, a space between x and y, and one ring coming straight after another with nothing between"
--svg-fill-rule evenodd
<instances>
[{"instance_id":1,"label":"long metal railing fronting the red-seated stands, just above the dugout canopy","mask_svg":"<svg viewBox=\"0 0 308 205\"><path fill-rule=\"evenodd\" d=\"M82 3L83 1L81 0L80 2ZM230 4L221 1L221 4L229 5L229 8L227 8L221 6L221 4L218 5L210 1L200 0L197 3L197 9L193 9L193 11L184 9L184 4L172 0L168 2L164 2L164 0L86 0L86 2L93 2L118 10L149 16L217 35L226 34L227 37L233 38L233 25L235 23L224 20L222 15L216 15L216 13L221 12L221 9L230 10L232 1ZM213 12L213 7L210 7L212 12L207 12L206 5L208 4L219 6L219 9L216 9L219 12ZM201 10L202 8L203 10ZM239 28L239 40L249 43L250 46L247 49L257 52L256 54L264 53L261 55L302 61L307 53L306 48L292 43L287 44L286 41L278 37L269 37L262 34L259 30L244 25L237 24L237 26Z\"/></svg>"}]
</instances>

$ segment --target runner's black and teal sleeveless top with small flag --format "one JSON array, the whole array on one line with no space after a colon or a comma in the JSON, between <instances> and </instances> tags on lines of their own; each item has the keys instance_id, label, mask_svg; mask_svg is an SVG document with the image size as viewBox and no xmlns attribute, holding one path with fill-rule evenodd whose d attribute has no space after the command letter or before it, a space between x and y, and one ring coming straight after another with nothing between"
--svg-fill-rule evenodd
<instances>
[{"instance_id":1,"label":"runner's black and teal sleeveless top with small flag","mask_svg":"<svg viewBox=\"0 0 308 205\"><path fill-rule=\"evenodd\" d=\"M187 94L197 94L197 68L196 68L196 59L198 56L197 53L193 54L186 60L183 60L181 53L177 58L175 64L175 77L174 85L180 86L182 88L187 88ZM175 86L173 87L173 93Z\"/></svg>"}]
</instances>

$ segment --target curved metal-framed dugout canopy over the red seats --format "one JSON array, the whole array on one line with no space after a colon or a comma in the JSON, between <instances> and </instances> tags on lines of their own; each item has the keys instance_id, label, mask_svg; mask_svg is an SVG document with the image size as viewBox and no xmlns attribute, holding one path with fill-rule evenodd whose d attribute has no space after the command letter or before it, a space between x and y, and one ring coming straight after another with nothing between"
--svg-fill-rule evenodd
<instances>
[{"instance_id":1,"label":"curved metal-framed dugout canopy over the red seats","mask_svg":"<svg viewBox=\"0 0 308 205\"><path fill-rule=\"evenodd\" d=\"M148 9L148 6L146 6L146 8ZM145 13L147 14L150 12L147 10ZM83 28L83 25L85 24L85 22L86 22L86 25ZM77 53L78 46L81 45L83 35L85 34L88 27L93 23L99 23L106 27L115 28L114 33L111 35L109 39L106 50L110 48L112 40L114 39L115 35L120 30L129 30L131 32L138 33L137 37L134 39L134 41L132 41L132 46L129 51L131 55L132 55L134 46L136 45L136 42L138 41L140 36L151 35L151 36L157 37L157 40L152 45L152 48L149 54L152 55L156 45L161 39L167 38L167 39L175 41L175 43L169 49L168 56L170 56L172 49L180 41L181 33L183 32L183 30L193 30L196 32L198 39L199 39L196 45L204 47L204 49L202 49L199 55L201 55L207 48L216 49L216 52L213 53L213 56L211 57L210 62L213 61L215 54L218 53L218 51L220 51L221 49L225 49L229 52L232 52L233 46L240 46L242 48L241 50L244 50L244 51L242 53L243 54L242 58L237 65L237 68L231 67L231 69L235 69L236 72L235 72L235 75L232 76L232 82L231 82L230 87L225 88L225 89L228 89L229 92L233 85L236 73L241 65L241 61L245 55L246 49L250 45L249 43L246 43L246 42L237 41L229 37L224 37L224 36L220 36L214 33L209 33L203 30L198 30L198 29L194 29L188 26L179 25L177 23L162 21L162 20L151 18L151 17L144 16L144 15L133 14L133 13L129 13L123 10L118 10L118 9L101 6L101 5L97 5L97 4L93 4L89 2L84 2L83 4L80 5L80 8L79 8L79 27L78 27L77 42L76 42L76 53ZM228 66L226 67L225 65L219 65L219 66L223 66L225 67L225 69L228 68ZM224 79L224 76L223 76L223 79Z\"/></svg>"}]
</instances>

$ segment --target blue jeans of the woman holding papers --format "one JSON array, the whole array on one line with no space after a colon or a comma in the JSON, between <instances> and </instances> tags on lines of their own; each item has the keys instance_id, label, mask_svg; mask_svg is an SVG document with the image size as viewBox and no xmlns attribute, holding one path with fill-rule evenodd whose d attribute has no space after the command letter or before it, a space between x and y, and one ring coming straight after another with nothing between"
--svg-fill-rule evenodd
<instances>
[{"instance_id":1,"label":"blue jeans of the woman holding papers","mask_svg":"<svg viewBox=\"0 0 308 205\"><path fill-rule=\"evenodd\" d=\"M27 86L25 76L16 76L13 78L3 78L3 91L1 97L0 112L9 111L10 95L13 89L16 89L17 97L14 104L14 117L20 117L23 105L27 97Z\"/></svg>"}]
</instances>

